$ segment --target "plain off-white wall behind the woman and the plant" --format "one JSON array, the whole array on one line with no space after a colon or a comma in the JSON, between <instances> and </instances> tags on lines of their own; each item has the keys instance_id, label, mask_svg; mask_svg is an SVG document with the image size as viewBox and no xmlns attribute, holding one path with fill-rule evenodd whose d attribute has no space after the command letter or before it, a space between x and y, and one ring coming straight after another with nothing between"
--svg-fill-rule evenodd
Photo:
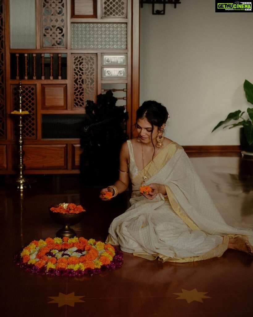
<instances>
[{"instance_id":1,"label":"plain off-white wall behind the woman and the plant","mask_svg":"<svg viewBox=\"0 0 253 317\"><path fill-rule=\"evenodd\" d=\"M165 15L140 9L140 104L168 108L166 136L181 145L239 145L239 130L219 128L228 113L253 107L253 12L215 13L215 1L181 0Z\"/></svg>"}]
</instances>

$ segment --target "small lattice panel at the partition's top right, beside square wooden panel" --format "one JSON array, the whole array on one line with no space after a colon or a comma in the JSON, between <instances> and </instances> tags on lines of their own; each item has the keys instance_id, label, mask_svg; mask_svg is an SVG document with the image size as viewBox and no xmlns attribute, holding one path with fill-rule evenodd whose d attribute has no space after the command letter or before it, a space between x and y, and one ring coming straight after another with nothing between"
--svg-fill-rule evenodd
<instances>
[{"instance_id":1,"label":"small lattice panel at the partition's top right, beside square wooden panel","mask_svg":"<svg viewBox=\"0 0 253 317\"><path fill-rule=\"evenodd\" d=\"M102 17L127 17L127 0L102 0Z\"/></svg>"}]
</instances>

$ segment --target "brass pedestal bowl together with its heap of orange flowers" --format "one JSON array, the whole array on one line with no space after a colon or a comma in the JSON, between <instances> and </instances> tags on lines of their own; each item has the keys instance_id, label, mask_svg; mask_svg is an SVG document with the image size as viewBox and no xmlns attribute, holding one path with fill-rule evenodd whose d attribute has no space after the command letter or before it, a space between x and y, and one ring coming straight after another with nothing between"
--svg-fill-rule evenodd
<instances>
[{"instance_id":1,"label":"brass pedestal bowl together with its heap of orange flowers","mask_svg":"<svg viewBox=\"0 0 253 317\"><path fill-rule=\"evenodd\" d=\"M63 227L57 231L57 237L69 237L76 236L76 231L70 228L70 225L79 223L84 216L85 209L81 205L62 203L49 207L49 214L51 218L62 224Z\"/></svg>"}]
</instances>

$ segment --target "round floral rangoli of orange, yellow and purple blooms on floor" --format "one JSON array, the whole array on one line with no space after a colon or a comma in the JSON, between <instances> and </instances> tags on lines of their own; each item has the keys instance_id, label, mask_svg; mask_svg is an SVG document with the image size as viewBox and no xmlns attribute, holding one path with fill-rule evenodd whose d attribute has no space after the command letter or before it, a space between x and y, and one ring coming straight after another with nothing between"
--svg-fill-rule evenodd
<instances>
[{"instance_id":1,"label":"round floral rangoli of orange, yellow and purple blooms on floor","mask_svg":"<svg viewBox=\"0 0 253 317\"><path fill-rule=\"evenodd\" d=\"M22 269L40 275L93 275L120 268L122 252L111 244L94 239L46 238L34 240L15 255Z\"/></svg>"}]
</instances>

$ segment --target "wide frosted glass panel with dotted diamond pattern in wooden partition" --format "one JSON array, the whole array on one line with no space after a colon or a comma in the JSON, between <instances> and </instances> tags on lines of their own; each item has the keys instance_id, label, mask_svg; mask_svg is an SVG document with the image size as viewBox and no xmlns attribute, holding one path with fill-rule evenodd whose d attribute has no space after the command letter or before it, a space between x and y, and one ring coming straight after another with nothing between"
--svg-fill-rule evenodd
<instances>
[{"instance_id":1,"label":"wide frosted glass panel with dotted diamond pattern in wooden partition","mask_svg":"<svg viewBox=\"0 0 253 317\"><path fill-rule=\"evenodd\" d=\"M72 49L126 49L126 23L72 23Z\"/></svg>"}]
</instances>

